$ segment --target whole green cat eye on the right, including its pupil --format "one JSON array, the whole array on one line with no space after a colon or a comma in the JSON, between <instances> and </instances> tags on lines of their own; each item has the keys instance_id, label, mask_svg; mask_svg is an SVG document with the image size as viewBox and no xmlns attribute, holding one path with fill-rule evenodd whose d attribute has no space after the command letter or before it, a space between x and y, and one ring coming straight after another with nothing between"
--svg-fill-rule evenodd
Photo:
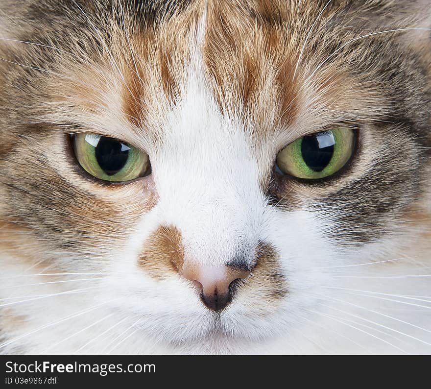
<instances>
[{"instance_id":1,"label":"whole green cat eye on the right, including its pupil","mask_svg":"<svg viewBox=\"0 0 431 389\"><path fill-rule=\"evenodd\" d=\"M335 127L297 139L277 154L276 167L297 178L328 177L340 170L355 150L355 131Z\"/></svg>"}]
</instances>

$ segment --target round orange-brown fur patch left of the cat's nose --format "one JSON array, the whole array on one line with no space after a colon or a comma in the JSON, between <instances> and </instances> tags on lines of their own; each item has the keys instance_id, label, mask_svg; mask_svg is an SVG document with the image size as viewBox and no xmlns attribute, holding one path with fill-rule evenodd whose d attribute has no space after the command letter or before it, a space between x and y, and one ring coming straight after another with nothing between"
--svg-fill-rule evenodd
<instances>
[{"instance_id":1,"label":"round orange-brown fur patch left of the cat's nose","mask_svg":"<svg viewBox=\"0 0 431 389\"><path fill-rule=\"evenodd\" d=\"M181 232L174 226L159 226L145 241L138 266L160 280L181 273L183 261Z\"/></svg>"}]
</instances>

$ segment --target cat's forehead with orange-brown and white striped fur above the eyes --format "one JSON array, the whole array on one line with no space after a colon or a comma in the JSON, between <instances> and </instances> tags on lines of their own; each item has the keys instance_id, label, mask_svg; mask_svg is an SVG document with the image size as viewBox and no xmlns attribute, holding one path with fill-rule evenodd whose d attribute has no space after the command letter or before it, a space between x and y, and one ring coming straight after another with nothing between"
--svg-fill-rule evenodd
<instances>
[{"instance_id":1,"label":"cat's forehead with orange-brown and white striped fur above the eyes","mask_svg":"<svg viewBox=\"0 0 431 389\"><path fill-rule=\"evenodd\" d=\"M231 131L278 145L380 114L382 105L370 109L376 91L365 90L343 68L349 58L331 56L331 34L325 40L307 34L319 8L294 15L294 7L282 12L273 4L269 17L265 2L256 8L259 16L245 6L192 4L150 28L112 26L103 60L79 69L85 86L66 83L84 110L84 129L140 146L143 136L154 141L171 135L172 124L192 109L199 115L189 115L188 124L202 133L229 122ZM308 12L313 17L302 20ZM310 54L316 42L320 47Z\"/></svg>"}]
</instances>

